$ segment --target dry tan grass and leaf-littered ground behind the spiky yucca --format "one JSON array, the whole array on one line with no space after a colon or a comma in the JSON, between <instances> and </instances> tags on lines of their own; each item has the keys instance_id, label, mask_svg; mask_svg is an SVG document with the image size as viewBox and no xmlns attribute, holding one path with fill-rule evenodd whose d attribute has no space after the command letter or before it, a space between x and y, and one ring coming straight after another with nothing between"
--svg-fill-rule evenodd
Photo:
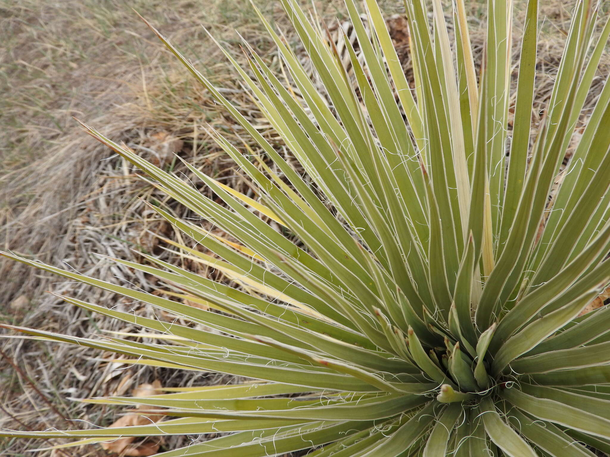
<instances>
[{"instance_id":1,"label":"dry tan grass and leaf-littered ground behind the spiky yucca","mask_svg":"<svg viewBox=\"0 0 610 457\"><path fill-rule=\"evenodd\" d=\"M285 25L278 2L257 3L267 16ZM338 1L324 4L318 4L321 16L342 17ZM561 55L562 40L558 38L565 35L572 4L571 0L554 0L544 7L547 19L539 62L542 76L537 82L540 107L550 93ZM389 13L397 13L400 2L386 1L384 5ZM242 191L248 187L232 162L203 132L203 126L210 123L237 141L239 129L154 41L132 7L224 87L244 113L260 118L201 28L201 24L209 27L239 57L238 37L233 30L237 26L240 34L277 65L270 41L260 33L245 1L0 0L0 40L4 44L0 49L0 243L3 248L58 266L154 291L162 285L93 254L140 261L142 258L132 250L135 248L180 262L170 259L151 235L178 239L179 233L155 219L138 197L163 203L167 198L143 183L137 170L84 135L72 116L113 140L124 141L167 169L185 172L174 158L175 152L224 183ZM472 13L476 29L481 10L475 5ZM400 21L393 26L397 27L395 37L400 45ZM482 40L483 34L475 32L473 43L479 49ZM587 106L595 101L607 74L606 61ZM262 119L257 122L274 140L267 124ZM187 178L194 180L192 175ZM179 216L191 216L181 208L171 208ZM121 297L58 282L57 278L13 263L0 261L0 278L0 322L77 336L132 330L54 299L44 294L45 290L90 302L118 304L143 316L154 314L145 306L132 308ZM154 379L165 387L220 381L220 376L213 374L127 367L109 362L111 354L78 347L22 339L5 340L0 347L0 427L78 428L84 422L109 425L118 411L69 399L124 394ZM20 370L13 369L12 364ZM171 438L165 447L184 442L184 438ZM0 441L0 451L7 456L26 455L26 450L37 447L41 447L40 442ZM90 446L70 450L68 455L107 454Z\"/></svg>"}]
</instances>

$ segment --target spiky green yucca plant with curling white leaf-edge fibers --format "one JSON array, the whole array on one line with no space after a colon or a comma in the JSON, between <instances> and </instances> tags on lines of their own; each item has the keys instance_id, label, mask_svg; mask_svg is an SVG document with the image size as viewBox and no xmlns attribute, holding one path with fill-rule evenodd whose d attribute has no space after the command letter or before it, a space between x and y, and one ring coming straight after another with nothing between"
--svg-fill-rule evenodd
<instances>
[{"instance_id":1,"label":"spiky green yucca plant with curling white leaf-edge fibers","mask_svg":"<svg viewBox=\"0 0 610 457\"><path fill-rule=\"evenodd\" d=\"M256 382L87 400L137 405L140 414L164 408L176 417L151 425L4 434L85 438L82 444L220 433L159 454L166 457L307 449L317 457L610 452L610 308L581 316L610 283L608 83L562 166L610 26L600 34L598 5L575 3L553 93L534 128L537 0L527 4L517 62L513 1L489 0L480 72L464 0L453 2L453 34L440 0L407 0L414 81L404 75L375 0L365 0L370 33L356 2L346 1L357 52L346 38L328 40L296 0L282 0L323 90L263 16L289 76L279 77L247 43L248 68L225 53L307 180L153 29L260 147L240 151L209 130L257 198L186 164L219 204L85 129L146 172L151 185L239 240L152 206L223 260L167 240L176 255L187 252L243 287L145 253L146 264L114 259L170 283L179 291L173 300L3 253L212 331L70 297L62 298L149 329L166 344L10 328L132 356L134 363ZM349 71L338 46L346 49ZM210 309L185 305L185 297Z\"/></svg>"}]
</instances>

